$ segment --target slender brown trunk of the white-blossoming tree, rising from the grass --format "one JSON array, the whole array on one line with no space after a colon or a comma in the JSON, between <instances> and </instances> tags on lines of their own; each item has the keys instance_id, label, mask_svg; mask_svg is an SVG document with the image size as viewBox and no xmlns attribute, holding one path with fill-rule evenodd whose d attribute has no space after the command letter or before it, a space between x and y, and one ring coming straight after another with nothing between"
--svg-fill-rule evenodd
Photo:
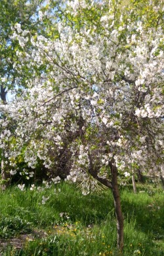
<instances>
[{"instance_id":1,"label":"slender brown trunk of the white-blossoming tree, rising from the grass","mask_svg":"<svg viewBox=\"0 0 164 256\"><path fill-rule=\"evenodd\" d=\"M121 201L119 196L119 187L117 183L117 168L110 163L110 169L112 173L112 193L115 206L115 216L117 219L117 248L120 253L123 251L123 213L121 210Z\"/></svg>"}]
</instances>

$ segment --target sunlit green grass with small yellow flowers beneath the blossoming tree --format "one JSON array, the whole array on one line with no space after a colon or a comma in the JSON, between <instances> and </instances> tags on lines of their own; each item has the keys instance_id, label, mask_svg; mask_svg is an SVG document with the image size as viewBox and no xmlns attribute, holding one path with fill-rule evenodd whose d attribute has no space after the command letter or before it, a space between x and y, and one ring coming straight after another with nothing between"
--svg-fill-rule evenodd
<instances>
[{"instance_id":1,"label":"sunlit green grass with small yellow flowers beneath the blossoming tree","mask_svg":"<svg viewBox=\"0 0 164 256\"><path fill-rule=\"evenodd\" d=\"M140 185L136 195L132 187L120 193L123 255L164 255L163 190ZM12 187L0 200L0 255L119 255L110 190L83 196L66 183L43 191Z\"/></svg>"}]
</instances>

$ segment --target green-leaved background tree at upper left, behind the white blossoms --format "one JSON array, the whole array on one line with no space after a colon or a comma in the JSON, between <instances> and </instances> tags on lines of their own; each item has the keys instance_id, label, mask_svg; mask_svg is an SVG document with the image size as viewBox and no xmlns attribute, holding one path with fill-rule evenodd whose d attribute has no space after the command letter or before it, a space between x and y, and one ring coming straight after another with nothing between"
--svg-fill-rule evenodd
<instances>
[{"instance_id":1,"label":"green-leaved background tree at upper left, behind the white blossoms","mask_svg":"<svg viewBox=\"0 0 164 256\"><path fill-rule=\"evenodd\" d=\"M9 92L9 100L14 96L21 96L22 90L26 88L27 81L30 77L33 77L33 69L37 76L40 76L44 72L45 67L32 67L27 63L27 66L22 67L21 56L23 55L24 48L26 51L31 51L33 45L30 40L26 38L24 42L24 36L30 33L31 36L42 34L44 36L55 37L58 31L56 30L55 23L58 22L58 18L62 16L60 12L60 1L44 0L2 0L0 3L0 86L1 86L1 102L7 104L7 93ZM58 16L54 16L54 9L58 9ZM44 16L42 15L44 13ZM49 18L47 18L49 16ZM18 41L11 40L11 36L16 30L20 32L24 30L23 36ZM23 48L23 49L22 49ZM21 74L20 74L21 73ZM3 111L1 112L1 118L6 118ZM10 123L10 129L13 132L15 124ZM8 129L9 129L9 124ZM9 185L9 170L7 154L2 150L1 152L1 174L3 183L2 188L5 189Z\"/></svg>"}]
</instances>

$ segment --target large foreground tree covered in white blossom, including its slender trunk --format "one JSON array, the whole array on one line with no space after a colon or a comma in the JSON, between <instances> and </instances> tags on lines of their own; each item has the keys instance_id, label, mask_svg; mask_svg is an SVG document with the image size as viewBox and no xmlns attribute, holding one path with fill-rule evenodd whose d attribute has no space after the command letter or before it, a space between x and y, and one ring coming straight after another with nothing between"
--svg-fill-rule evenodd
<instances>
[{"instance_id":1,"label":"large foreground tree covered in white blossom, including its slender trunk","mask_svg":"<svg viewBox=\"0 0 164 256\"><path fill-rule=\"evenodd\" d=\"M117 176L160 173L163 165L164 48L163 1L120 3L60 1L50 10L58 30L49 26L47 36L17 27L15 69L30 78L21 97L1 105L1 148L15 169L20 154L33 169L40 159L56 170L63 157L67 179L81 183L84 195L100 184L111 188L122 251Z\"/></svg>"}]
</instances>

